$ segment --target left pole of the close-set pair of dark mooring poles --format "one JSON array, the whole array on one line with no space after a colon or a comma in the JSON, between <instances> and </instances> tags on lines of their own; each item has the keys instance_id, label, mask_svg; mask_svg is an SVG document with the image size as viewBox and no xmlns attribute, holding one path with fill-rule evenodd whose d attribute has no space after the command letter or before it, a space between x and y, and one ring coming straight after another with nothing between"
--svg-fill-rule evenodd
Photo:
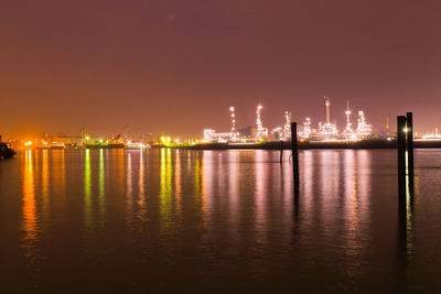
<instances>
[{"instance_id":1,"label":"left pole of the close-set pair of dark mooring poles","mask_svg":"<svg viewBox=\"0 0 441 294\"><path fill-rule=\"evenodd\" d=\"M398 196L406 204L406 117L397 117Z\"/></svg>"}]
</instances>

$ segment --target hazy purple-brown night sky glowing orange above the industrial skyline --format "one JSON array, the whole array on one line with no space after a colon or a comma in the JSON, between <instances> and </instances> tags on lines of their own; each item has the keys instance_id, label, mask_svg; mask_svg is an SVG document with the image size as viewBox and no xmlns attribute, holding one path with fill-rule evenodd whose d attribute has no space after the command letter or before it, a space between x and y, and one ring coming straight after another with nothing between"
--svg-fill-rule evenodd
<instances>
[{"instance_id":1,"label":"hazy purple-brown night sky glowing orange above the industrial skyline","mask_svg":"<svg viewBox=\"0 0 441 294\"><path fill-rule=\"evenodd\" d=\"M346 99L384 128L441 127L440 1L2 1L1 133L201 137L284 110L343 129ZM353 117L355 123L355 117Z\"/></svg>"}]
</instances>

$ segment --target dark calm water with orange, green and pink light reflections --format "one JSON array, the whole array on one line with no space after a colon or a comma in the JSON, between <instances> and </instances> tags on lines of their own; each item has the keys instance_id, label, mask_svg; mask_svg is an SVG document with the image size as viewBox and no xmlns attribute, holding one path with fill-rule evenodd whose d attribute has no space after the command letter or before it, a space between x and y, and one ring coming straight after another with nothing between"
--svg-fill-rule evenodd
<instances>
[{"instance_id":1,"label":"dark calm water with orange, green and pink light reflections","mask_svg":"<svg viewBox=\"0 0 441 294\"><path fill-rule=\"evenodd\" d=\"M0 162L8 292L440 292L441 151L23 151Z\"/></svg>"}]
</instances>

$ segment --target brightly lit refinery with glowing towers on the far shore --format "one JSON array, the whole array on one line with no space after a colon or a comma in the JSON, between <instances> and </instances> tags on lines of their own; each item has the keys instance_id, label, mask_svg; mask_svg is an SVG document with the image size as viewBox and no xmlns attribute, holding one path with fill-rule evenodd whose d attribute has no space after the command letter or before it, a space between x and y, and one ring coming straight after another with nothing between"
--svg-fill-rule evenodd
<instances>
[{"instance_id":1,"label":"brightly lit refinery with glowing towers on the far shore","mask_svg":"<svg viewBox=\"0 0 441 294\"><path fill-rule=\"evenodd\" d=\"M319 122L318 129L312 128L311 118L305 118L303 122L303 130L299 132L299 137L303 140L310 141L356 141L372 137L373 127L366 122L365 113L363 110L358 111L357 128L354 130L349 108L349 101L345 111L346 126L342 132L338 132L335 122L331 122L331 99L330 97L323 97L325 106L325 122ZM289 141L291 139L291 112L284 112L284 124L282 127L276 127L268 132L268 128L263 126L262 119L262 105L258 105L256 109L256 128L251 128L255 131L252 133L240 133L236 126L236 112L235 107L229 108L230 112L230 131L218 133L214 129L204 130L204 142L217 142L217 143L245 143L245 142L262 142L262 141ZM241 131L241 130L240 130Z\"/></svg>"}]
</instances>

